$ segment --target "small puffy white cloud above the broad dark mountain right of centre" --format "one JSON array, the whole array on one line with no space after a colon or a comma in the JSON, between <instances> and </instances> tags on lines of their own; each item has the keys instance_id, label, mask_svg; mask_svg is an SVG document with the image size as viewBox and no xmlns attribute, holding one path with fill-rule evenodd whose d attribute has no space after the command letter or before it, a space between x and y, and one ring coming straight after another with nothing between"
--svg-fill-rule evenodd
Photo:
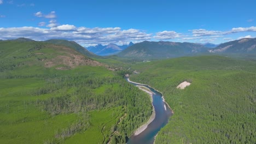
<instances>
[{"instance_id":1,"label":"small puffy white cloud above the broad dark mountain right of centre","mask_svg":"<svg viewBox=\"0 0 256 144\"><path fill-rule=\"evenodd\" d=\"M156 33L156 35L154 36L155 39L160 39L160 40L174 39L179 37L182 37L182 34L174 31L162 31L162 32Z\"/></svg>"}]
</instances>

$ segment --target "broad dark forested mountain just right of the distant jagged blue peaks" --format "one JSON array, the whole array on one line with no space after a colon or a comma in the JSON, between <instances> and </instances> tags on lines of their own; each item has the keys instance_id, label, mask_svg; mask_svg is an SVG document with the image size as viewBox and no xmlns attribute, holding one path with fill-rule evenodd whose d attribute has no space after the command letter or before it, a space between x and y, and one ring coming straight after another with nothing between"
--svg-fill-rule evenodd
<instances>
[{"instance_id":1,"label":"broad dark forested mountain just right of the distant jagged blue peaks","mask_svg":"<svg viewBox=\"0 0 256 144\"><path fill-rule=\"evenodd\" d=\"M118 53L120 57L170 58L207 52L205 46L195 43L174 43L170 41L143 41Z\"/></svg>"}]
</instances>

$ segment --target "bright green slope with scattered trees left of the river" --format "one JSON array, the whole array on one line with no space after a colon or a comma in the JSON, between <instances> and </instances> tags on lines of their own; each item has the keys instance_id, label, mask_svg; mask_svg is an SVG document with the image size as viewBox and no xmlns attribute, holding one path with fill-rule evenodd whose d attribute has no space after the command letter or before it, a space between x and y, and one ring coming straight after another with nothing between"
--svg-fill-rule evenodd
<instances>
[{"instance_id":1,"label":"bright green slope with scattered trees left of the river","mask_svg":"<svg viewBox=\"0 0 256 144\"><path fill-rule=\"evenodd\" d=\"M70 53L81 55L42 42L0 42L0 143L106 143L109 137L124 142L147 121L147 94L113 71L45 67L49 59Z\"/></svg>"}]
</instances>

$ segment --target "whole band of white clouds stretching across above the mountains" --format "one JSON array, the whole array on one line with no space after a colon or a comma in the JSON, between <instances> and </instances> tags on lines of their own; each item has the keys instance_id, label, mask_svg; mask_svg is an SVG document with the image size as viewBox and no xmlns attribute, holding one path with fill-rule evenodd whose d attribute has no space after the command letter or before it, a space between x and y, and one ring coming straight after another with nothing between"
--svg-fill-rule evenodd
<instances>
[{"instance_id":1,"label":"whole band of white clouds stretching across above the mountains","mask_svg":"<svg viewBox=\"0 0 256 144\"><path fill-rule=\"evenodd\" d=\"M40 11L36 13L37 16L44 16ZM82 45L96 45L96 44L124 44L127 41L141 42L144 40L152 39L178 39L181 41L205 41L215 42L218 40L230 41L231 38L221 38L224 34L209 35L213 32L224 33L220 31L207 31L200 30L200 37L194 35L184 35L175 31L162 31L155 33L147 33L139 29L121 29L120 27L75 27L74 25L60 25L56 23L55 19L50 19L48 22L40 22L38 26L46 26L48 28L39 27L11 27L0 28L0 39L15 39L19 37L31 38L34 40L47 40L47 39L67 39L76 41ZM233 28L233 32L252 31L254 27L248 28ZM194 31L195 32L195 31ZM203 33L205 32L205 33ZM203 33L203 34L202 34ZM199 34L197 31L196 34ZM205 35L205 34L208 34ZM241 38L252 38L251 35Z\"/></svg>"}]
</instances>

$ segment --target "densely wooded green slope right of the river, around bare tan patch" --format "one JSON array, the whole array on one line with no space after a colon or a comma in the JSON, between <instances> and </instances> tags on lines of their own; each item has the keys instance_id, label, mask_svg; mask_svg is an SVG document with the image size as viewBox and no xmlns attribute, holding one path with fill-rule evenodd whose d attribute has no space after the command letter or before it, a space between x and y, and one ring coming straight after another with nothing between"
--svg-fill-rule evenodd
<instances>
[{"instance_id":1,"label":"densely wooded green slope right of the river, around bare tan patch","mask_svg":"<svg viewBox=\"0 0 256 144\"><path fill-rule=\"evenodd\" d=\"M256 63L220 56L139 64L131 79L164 93L174 111L156 143L253 143L256 140ZM184 90L177 85L192 84Z\"/></svg>"}]
</instances>

